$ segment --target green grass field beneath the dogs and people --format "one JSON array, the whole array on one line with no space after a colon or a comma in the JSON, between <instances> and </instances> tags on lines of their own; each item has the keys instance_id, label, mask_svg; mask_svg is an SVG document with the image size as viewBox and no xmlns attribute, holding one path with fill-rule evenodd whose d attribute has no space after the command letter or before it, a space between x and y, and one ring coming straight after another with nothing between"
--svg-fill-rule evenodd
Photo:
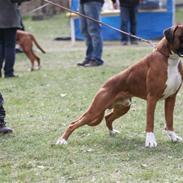
<instances>
[{"instance_id":1,"label":"green grass field beneath the dogs and people","mask_svg":"<svg viewBox=\"0 0 183 183\"><path fill-rule=\"evenodd\" d=\"M179 22L181 12L179 12ZM0 183L181 183L183 143L173 144L165 135L163 102L157 106L155 134L158 147L147 149L145 101L134 98L131 111L116 120L121 133L109 137L105 123L76 130L67 146L52 145L66 126L82 114L101 84L110 76L152 51L144 44L122 48L105 42L105 65L79 68L84 42L71 45L53 41L68 36L69 22L55 16L42 22L25 20L47 51L40 71L29 72L30 63L17 55L16 79L1 79L11 135L0 136ZM183 91L177 96L174 124L183 137Z\"/></svg>"}]
</instances>

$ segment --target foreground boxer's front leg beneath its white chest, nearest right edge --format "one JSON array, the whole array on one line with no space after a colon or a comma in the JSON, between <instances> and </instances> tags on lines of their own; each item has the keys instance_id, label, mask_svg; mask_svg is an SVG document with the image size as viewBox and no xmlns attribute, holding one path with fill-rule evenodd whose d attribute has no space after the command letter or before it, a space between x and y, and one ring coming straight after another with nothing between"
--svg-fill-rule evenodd
<instances>
[{"instance_id":1,"label":"foreground boxer's front leg beneath its white chest, nearest right edge","mask_svg":"<svg viewBox=\"0 0 183 183\"><path fill-rule=\"evenodd\" d=\"M165 120L166 120L166 132L172 142L182 141L173 129L173 111L175 106L176 95L169 97L165 100Z\"/></svg>"}]
</instances>

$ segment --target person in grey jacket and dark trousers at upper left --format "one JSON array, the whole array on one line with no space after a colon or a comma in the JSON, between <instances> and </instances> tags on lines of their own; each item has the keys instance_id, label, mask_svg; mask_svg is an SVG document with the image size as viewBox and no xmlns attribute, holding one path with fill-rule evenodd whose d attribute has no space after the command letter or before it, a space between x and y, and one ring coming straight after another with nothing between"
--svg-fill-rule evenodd
<instances>
[{"instance_id":1,"label":"person in grey jacket and dark trousers at upper left","mask_svg":"<svg viewBox=\"0 0 183 183\"><path fill-rule=\"evenodd\" d=\"M15 64L16 30L21 28L17 3L0 0L0 77L12 78ZM4 66L3 66L4 64Z\"/></svg>"}]
</instances>

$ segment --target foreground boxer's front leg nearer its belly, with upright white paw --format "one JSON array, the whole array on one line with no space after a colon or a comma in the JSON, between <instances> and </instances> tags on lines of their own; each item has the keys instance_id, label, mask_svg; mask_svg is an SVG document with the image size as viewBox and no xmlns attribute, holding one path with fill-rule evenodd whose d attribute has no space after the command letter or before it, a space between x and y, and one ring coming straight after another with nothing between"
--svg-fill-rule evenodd
<instances>
[{"instance_id":1,"label":"foreground boxer's front leg nearer its belly, with upright white paw","mask_svg":"<svg viewBox=\"0 0 183 183\"><path fill-rule=\"evenodd\" d=\"M157 99L152 96L147 97L147 123L146 123L146 147L156 147L157 142L154 131L154 112L156 107Z\"/></svg>"}]
</instances>

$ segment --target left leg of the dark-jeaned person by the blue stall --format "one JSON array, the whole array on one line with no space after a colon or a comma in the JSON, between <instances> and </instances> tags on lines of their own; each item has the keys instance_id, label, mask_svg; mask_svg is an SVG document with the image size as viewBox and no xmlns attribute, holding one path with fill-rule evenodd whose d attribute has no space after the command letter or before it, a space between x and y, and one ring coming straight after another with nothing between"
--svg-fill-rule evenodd
<instances>
[{"instance_id":1,"label":"left leg of the dark-jeaned person by the blue stall","mask_svg":"<svg viewBox=\"0 0 183 183\"><path fill-rule=\"evenodd\" d=\"M121 17L121 30L128 32L128 22L129 22L129 8L120 7L120 17ZM121 34L122 43L126 44L128 42L128 36Z\"/></svg>"}]
</instances>

